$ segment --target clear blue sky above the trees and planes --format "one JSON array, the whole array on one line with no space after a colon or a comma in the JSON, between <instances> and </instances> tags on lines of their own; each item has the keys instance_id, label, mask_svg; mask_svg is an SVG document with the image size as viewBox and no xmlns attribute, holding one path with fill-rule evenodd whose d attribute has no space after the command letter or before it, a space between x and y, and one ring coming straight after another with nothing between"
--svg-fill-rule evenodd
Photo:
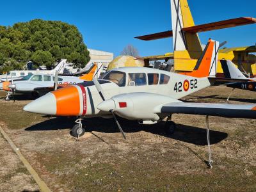
<instances>
[{"instance_id":1,"label":"clear blue sky above the trees and planes","mask_svg":"<svg viewBox=\"0 0 256 192\"><path fill-rule=\"evenodd\" d=\"M195 24L236 17L256 17L255 0L188 0ZM170 0L10 0L1 2L0 25L31 19L61 20L74 24L87 47L114 52L118 56L132 44L140 56L173 51L172 38L144 42L134 36L171 28ZM255 45L256 24L200 33L202 44L208 38L227 41L227 47Z\"/></svg>"}]
</instances>

